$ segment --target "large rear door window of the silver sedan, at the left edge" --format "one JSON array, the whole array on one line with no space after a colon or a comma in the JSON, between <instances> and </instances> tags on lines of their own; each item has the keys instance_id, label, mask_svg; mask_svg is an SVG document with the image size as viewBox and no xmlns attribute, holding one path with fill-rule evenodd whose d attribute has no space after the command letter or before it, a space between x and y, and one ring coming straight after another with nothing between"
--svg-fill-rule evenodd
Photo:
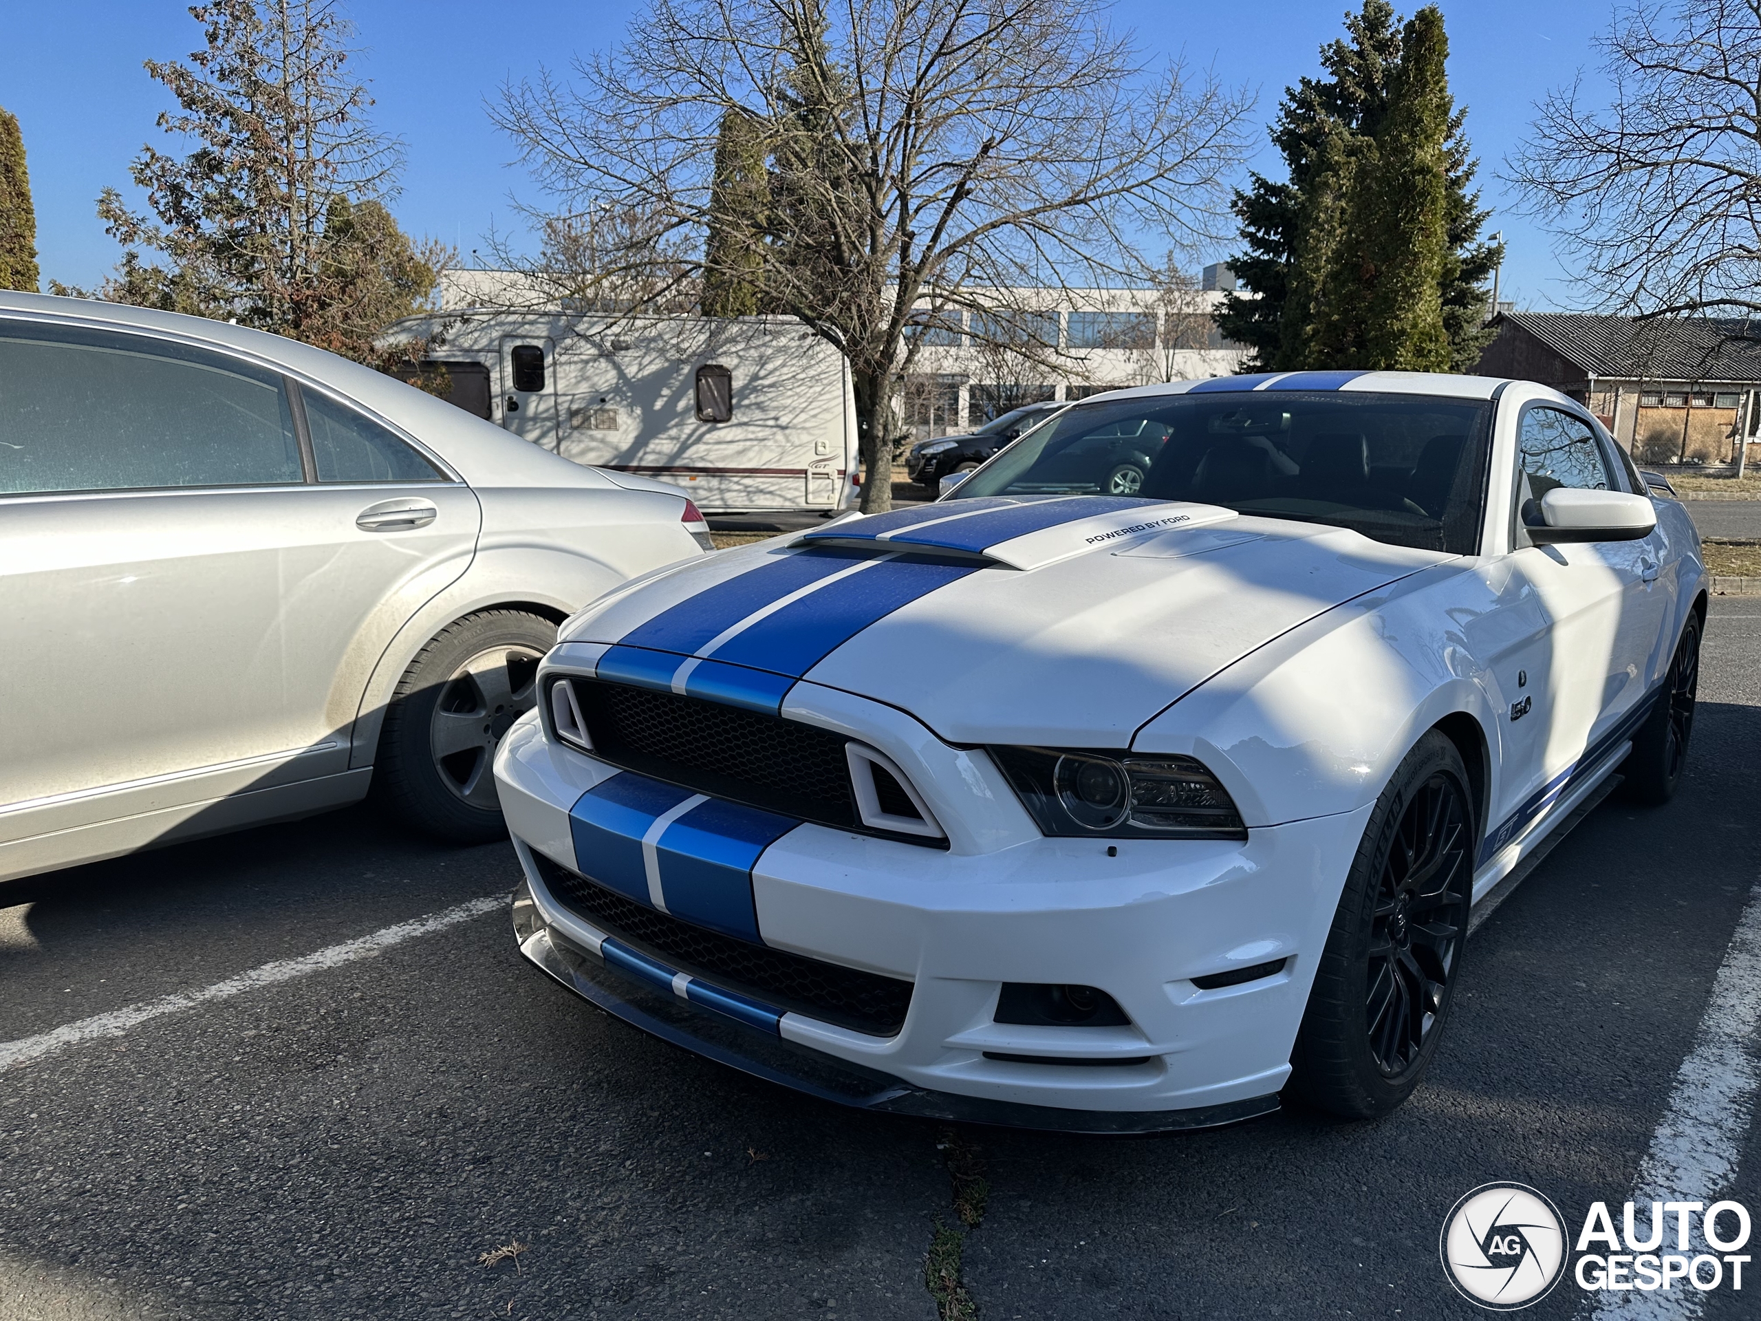
<instances>
[{"instance_id":1,"label":"large rear door window of the silver sedan, at the left edge","mask_svg":"<svg viewBox=\"0 0 1761 1321\"><path fill-rule=\"evenodd\" d=\"M280 375L148 335L0 321L0 493L301 481Z\"/></svg>"}]
</instances>

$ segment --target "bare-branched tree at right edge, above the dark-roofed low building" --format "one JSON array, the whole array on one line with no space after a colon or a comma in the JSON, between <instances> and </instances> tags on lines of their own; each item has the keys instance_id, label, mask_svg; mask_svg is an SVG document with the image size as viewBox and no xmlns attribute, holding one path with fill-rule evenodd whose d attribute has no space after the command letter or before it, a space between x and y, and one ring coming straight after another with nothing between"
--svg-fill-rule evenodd
<instances>
[{"instance_id":1,"label":"bare-branched tree at right edge, above the dark-roofed low building","mask_svg":"<svg viewBox=\"0 0 1761 1321\"><path fill-rule=\"evenodd\" d=\"M1548 95L1506 180L1599 306L1761 310L1761 0L1638 4L1597 46L1611 104Z\"/></svg>"}]
</instances>

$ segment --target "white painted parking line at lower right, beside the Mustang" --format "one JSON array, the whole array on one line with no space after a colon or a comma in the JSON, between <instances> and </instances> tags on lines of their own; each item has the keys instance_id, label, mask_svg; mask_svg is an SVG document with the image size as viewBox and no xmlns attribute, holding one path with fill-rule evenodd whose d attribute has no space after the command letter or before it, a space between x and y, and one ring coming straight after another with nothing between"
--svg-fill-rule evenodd
<instances>
[{"instance_id":1,"label":"white painted parking line at lower right, beside the Mustang","mask_svg":"<svg viewBox=\"0 0 1761 1321\"><path fill-rule=\"evenodd\" d=\"M1639 1161L1632 1185L1638 1224L1647 1222L1652 1201L1699 1201L1726 1198L1736 1161L1754 1117L1761 1071L1750 1057L1761 1027L1761 884L1749 891L1749 905L1724 951L1712 981L1712 1002L1694 1032L1694 1048L1676 1069L1669 1104L1664 1108L1650 1150ZM1620 1219L1618 1208L1615 1219ZM1641 1233L1648 1233L1641 1229ZM1729 1222L1724 1233L1731 1233ZM1673 1240L1671 1240L1673 1242ZM1706 1252L1701 1222L1694 1219L1689 1252ZM1603 1293L1594 1310L1601 1317L1696 1317L1706 1295L1699 1289L1654 1293Z\"/></svg>"}]
</instances>

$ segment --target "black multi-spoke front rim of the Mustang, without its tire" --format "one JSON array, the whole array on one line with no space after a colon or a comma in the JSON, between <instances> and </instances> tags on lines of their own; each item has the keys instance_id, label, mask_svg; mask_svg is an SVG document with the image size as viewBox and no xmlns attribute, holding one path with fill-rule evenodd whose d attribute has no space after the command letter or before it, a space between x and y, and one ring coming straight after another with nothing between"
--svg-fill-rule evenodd
<instances>
[{"instance_id":1,"label":"black multi-spoke front rim of the Mustang, without its tire","mask_svg":"<svg viewBox=\"0 0 1761 1321\"><path fill-rule=\"evenodd\" d=\"M1462 786L1437 771L1407 798L1382 856L1363 1018L1370 1055L1389 1078L1421 1060L1467 939L1467 823Z\"/></svg>"}]
</instances>

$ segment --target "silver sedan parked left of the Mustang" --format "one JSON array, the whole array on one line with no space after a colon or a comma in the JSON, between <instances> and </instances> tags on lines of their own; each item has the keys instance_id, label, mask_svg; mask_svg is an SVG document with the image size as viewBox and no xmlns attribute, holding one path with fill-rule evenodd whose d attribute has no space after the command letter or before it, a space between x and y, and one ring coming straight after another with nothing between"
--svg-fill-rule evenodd
<instances>
[{"instance_id":1,"label":"silver sedan parked left of the Mustang","mask_svg":"<svg viewBox=\"0 0 1761 1321\"><path fill-rule=\"evenodd\" d=\"M556 625L683 491L215 321L0 292L0 881L356 801L504 831Z\"/></svg>"}]
</instances>

